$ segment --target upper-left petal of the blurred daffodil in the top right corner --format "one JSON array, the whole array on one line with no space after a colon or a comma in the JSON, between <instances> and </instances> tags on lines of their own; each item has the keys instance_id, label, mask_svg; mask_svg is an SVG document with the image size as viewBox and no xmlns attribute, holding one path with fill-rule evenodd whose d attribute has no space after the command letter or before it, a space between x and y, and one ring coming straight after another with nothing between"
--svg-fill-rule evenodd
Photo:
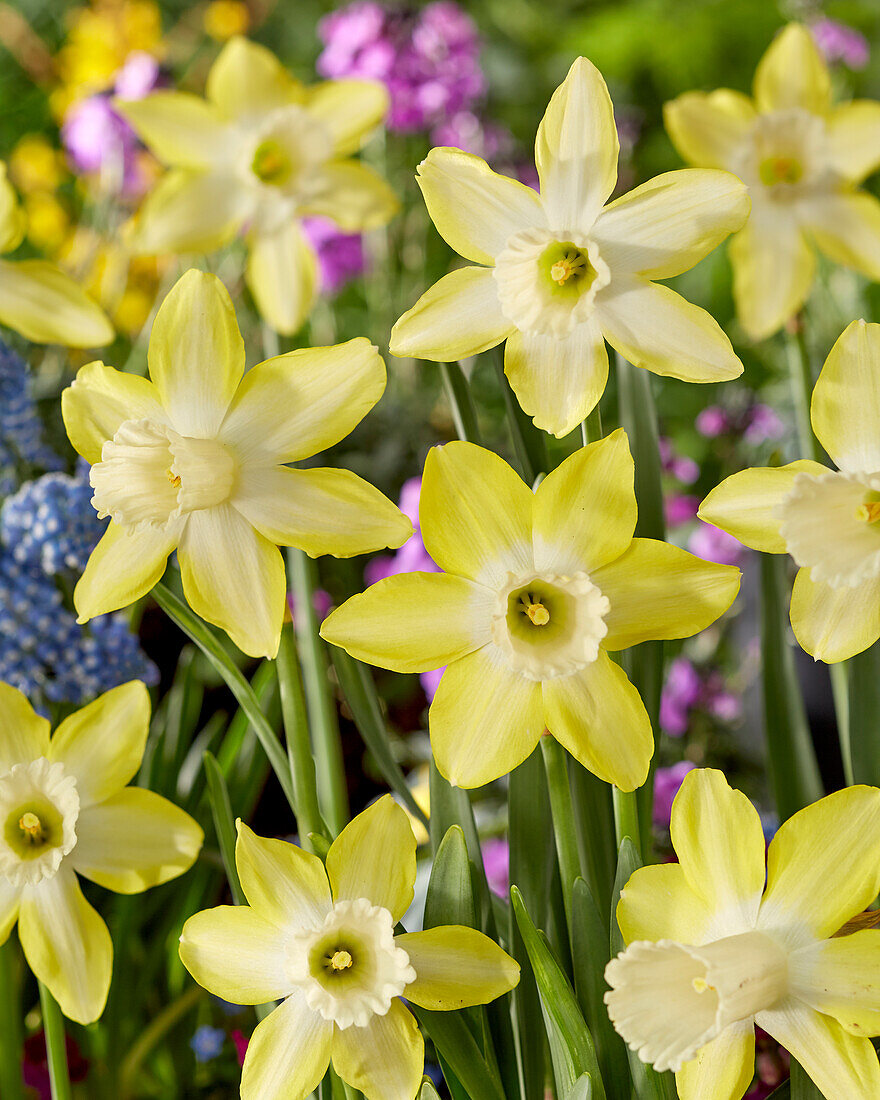
<instances>
[{"instance_id":1,"label":"upper-left petal of the blurred daffodil in the top right corner","mask_svg":"<svg viewBox=\"0 0 880 1100\"><path fill-rule=\"evenodd\" d=\"M749 97L730 88L688 91L663 106L672 144L689 164L705 168L730 168L756 118Z\"/></svg>"}]
</instances>

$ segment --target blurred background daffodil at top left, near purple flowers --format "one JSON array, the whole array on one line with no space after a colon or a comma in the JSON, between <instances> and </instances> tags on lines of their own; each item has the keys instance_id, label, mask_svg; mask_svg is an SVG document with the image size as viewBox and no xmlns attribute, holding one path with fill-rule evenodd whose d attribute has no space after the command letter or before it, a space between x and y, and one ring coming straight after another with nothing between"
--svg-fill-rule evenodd
<instances>
[{"instance_id":1,"label":"blurred background daffodil at top left, near purple flowers","mask_svg":"<svg viewBox=\"0 0 880 1100\"><path fill-rule=\"evenodd\" d=\"M223 47L206 92L156 91L119 105L170 167L138 216L132 246L209 252L244 229L257 307L278 332L295 332L317 287L300 218L321 215L362 232L397 209L388 185L351 156L382 121L387 92L370 80L307 88L241 37Z\"/></svg>"}]
</instances>

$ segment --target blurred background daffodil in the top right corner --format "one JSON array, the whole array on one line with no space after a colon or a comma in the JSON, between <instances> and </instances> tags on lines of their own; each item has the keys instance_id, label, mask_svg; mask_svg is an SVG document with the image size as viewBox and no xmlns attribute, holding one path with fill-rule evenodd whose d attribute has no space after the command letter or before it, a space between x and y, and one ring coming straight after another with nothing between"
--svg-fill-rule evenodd
<instances>
[{"instance_id":1,"label":"blurred background daffodil in the top right corner","mask_svg":"<svg viewBox=\"0 0 880 1100\"><path fill-rule=\"evenodd\" d=\"M755 73L754 98L689 91L666 106L691 164L748 184L751 217L730 242L744 329L769 337L806 300L817 246L880 278L880 202L858 184L880 165L880 103L832 103L828 68L810 31L787 26Z\"/></svg>"}]
</instances>

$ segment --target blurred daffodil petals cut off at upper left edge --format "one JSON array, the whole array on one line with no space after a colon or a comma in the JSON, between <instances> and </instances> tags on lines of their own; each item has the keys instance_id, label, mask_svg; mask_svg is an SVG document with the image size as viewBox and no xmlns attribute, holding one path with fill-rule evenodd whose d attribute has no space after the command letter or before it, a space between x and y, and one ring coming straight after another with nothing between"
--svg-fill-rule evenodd
<instances>
[{"instance_id":1,"label":"blurred daffodil petals cut off at upper left edge","mask_svg":"<svg viewBox=\"0 0 880 1100\"><path fill-rule=\"evenodd\" d=\"M25 226L0 161L0 253L18 249ZM68 348L100 348L113 339L113 326L101 307L45 260L0 260L0 324L34 343Z\"/></svg>"}]
</instances>

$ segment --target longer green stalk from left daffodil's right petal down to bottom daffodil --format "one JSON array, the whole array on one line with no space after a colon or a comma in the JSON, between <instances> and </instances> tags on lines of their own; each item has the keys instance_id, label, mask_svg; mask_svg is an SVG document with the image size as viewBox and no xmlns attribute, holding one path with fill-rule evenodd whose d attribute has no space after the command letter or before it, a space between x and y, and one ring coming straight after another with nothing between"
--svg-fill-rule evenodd
<instances>
[{"instance_id":1,"label":"longer green stalk from left daffodil's right petal down to bottom daffodil","mask_svg":"<svg viewBox=\"0 0 880 1100\"><path fill-rule=\"evenodd\" d=\"M287 571L296 605L296 642L314 738L318 802L330 832L339 836L349 821L349 792L337 706L327 674L327 652L318 634L318 616L312 602L318 587L318 570L307 554L292 547L287 550Z\"/></svg>"}]
</instances>

